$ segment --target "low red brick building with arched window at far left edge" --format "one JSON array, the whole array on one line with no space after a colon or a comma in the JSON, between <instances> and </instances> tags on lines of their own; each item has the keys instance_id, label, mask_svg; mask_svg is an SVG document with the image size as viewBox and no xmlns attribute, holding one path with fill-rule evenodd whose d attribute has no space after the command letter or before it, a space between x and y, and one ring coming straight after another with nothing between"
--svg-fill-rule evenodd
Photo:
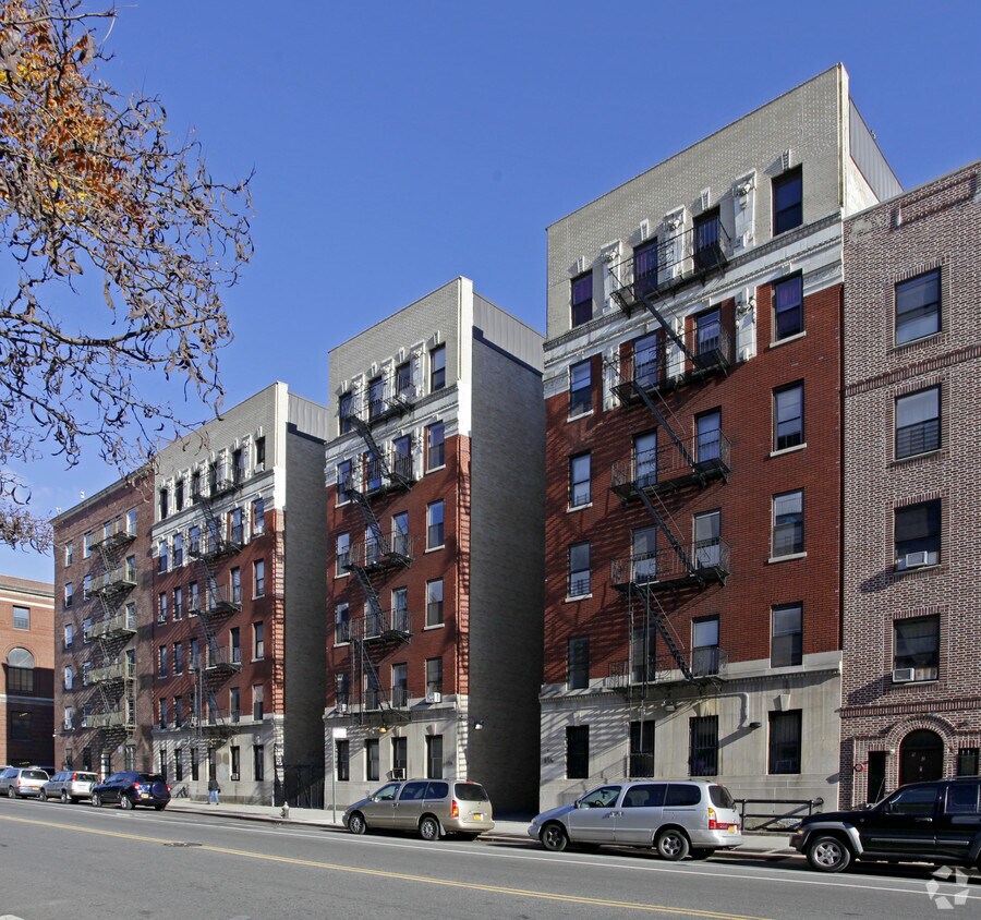
<instances>
[{"instance_id":1,"label":"low red brick building with arched window at far left edge","mask_svg":"<svg viewBox=\"0 0 981 920\"><path fill-rule=\"evenodd\" d=\"M53 588L0 576L0 764L55 763Z\"/></svg>"}]
</instances>

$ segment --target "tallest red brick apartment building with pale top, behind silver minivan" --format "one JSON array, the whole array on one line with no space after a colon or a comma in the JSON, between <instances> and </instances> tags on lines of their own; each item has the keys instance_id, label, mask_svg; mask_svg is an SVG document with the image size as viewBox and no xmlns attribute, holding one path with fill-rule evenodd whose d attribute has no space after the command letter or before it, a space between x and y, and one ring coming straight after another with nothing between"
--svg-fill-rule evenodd
<instances>
[{"instance_id":1,"label":"tallest red brick apartment building with pale top, behind silver minivan","mask_svg":"<svg viewBox=\"0 0 981 920\"><path fill-rule=\"evenodd\" d=\"M833 68L548 228L543 807L836 798L841 215L897 189Z\"/></svg>"}]
</instances>

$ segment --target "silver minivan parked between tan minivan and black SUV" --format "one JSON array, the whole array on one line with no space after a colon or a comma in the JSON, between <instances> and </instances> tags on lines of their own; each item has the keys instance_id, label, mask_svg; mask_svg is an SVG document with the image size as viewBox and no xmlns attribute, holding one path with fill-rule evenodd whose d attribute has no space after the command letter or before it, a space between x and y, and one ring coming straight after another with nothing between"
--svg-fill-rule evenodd
<instances>
[{"instance_id":1,"label":"silver minivan parked between tan minivan and black SUV","mask_svg":"<svg viewBox=\"0 0 981 920\"><path fill-rule=\"evenodd\" d=\"M729 790L707 779L622 779L535 818L529 836L548 850L570 843L654 847L663 859L706 859L742 843Z\"/></svg>"}]
</instances>

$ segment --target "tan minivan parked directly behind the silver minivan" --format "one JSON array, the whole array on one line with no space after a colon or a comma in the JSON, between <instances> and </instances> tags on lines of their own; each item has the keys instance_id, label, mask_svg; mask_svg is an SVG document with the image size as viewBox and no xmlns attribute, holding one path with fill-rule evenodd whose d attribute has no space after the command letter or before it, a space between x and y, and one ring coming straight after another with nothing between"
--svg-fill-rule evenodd
<instances>
[{"instance_id":1,"label":"tan minivan parked directly behind the silver minivan","mask_svg":"<svg viewBox=\"0 0 981 920\"><path fill-rule=\"evenodd\" d=\"M480 783L463 779L400 779L349 806L344 826L352 834L370 828L417 831L424 840L446 834L473 839L494 828L491 800Z\"/></svg>"}]
</instances>

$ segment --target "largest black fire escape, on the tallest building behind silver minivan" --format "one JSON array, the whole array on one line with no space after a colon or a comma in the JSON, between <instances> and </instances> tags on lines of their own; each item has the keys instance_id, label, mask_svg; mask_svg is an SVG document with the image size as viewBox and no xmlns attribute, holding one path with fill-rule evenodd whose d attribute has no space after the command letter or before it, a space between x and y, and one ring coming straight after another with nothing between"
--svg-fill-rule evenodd
<instances>
[{"instance_id":1,"label":"largest black fire escape, on the tallest building behind silver minivan","mask_svg":"<svg viewBox=\"0 0 981 920\"><path fill-rule=\"evenodd\" d=\"M625 409L642 404L657 422L654 446L634 450L611 469L611 489L625 505L640 501L655 526L647 545L634 546L629 557L611 564L611 583L628 598L630 661L610 666L609 682L628 693L632 687L645 692L649 682L673 670L686 681L698 681L718 674L724 664L725 653L715 646L692 649L691 657L686 657L661 597L665 592L725 584L729 574L725 541L717 533L698 532L693 541L680 538L664 501L668 495L726 482L730 472L730 445L718 419L704 416L697 435L681 437L682 426L665 399L680 387L727 374L731 365L731 340L717 308L699 314L681 331L667 315L679 289L704 283L725 270L726 245L716 216L664 242L638 247L634 256L610 266L613 296L622 312L629 316L637 307L645 308L659 327L642 351L607 363L613 391ZM657 544L666 545L658 549ZM656 635L667 655L655 653Z\"/></svg>"}]
</instances>

